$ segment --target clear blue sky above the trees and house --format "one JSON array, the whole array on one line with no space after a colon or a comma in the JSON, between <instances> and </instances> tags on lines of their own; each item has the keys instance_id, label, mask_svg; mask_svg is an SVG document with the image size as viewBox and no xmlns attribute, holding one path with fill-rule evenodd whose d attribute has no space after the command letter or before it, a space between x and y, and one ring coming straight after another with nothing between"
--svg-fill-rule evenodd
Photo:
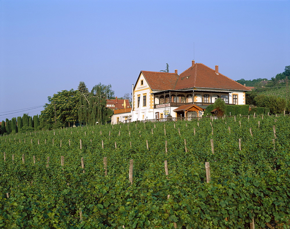
<instances>
[{"instance_id":1,"label":"clear blue sky above the trees and house","mask_svg":"<svg viewBox=\"0 0 290 229\"><path fill-rule=\"evenodd\" d=\"M166 63L271 79L290 65L289 12L290 1L1 0L0 121L79 81L131 94L141 70Z\"/></svg>"}]
</instances>

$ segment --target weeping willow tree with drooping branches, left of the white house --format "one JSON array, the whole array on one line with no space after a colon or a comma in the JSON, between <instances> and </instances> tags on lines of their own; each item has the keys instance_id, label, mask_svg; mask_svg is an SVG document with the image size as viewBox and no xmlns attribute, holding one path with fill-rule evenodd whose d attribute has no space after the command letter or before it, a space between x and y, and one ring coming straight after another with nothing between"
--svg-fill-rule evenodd
<instances>
[{"instance_id":1,"label":"weeping willow tree with drooping branches, left of the white house","mask_svg":"<svg viewBox=\"0 0 290 229\"><path fill-rule=\"evenodd\" d=\"M95 85L89 94L81 94L79 97L79 122L95 125L107 123L114 114L113 110L106 107L107 99L114 98L111 85L99 83Z\"/></svg>"}]
</instances>

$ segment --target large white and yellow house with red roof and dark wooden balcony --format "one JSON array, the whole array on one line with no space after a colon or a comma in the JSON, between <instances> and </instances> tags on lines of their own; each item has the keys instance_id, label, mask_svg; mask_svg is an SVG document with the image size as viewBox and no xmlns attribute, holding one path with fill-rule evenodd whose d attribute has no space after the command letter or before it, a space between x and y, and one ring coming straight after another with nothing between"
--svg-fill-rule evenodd
<instances>
[{"instance_id":1,"label":"large white and yellow house with red roof and dark wooden balcony","mask_svg":"<svg viewBox=\"0 0 290 229\"><path fill-rule=\"evenodd\" d=\"M132 121L172 117L199 117L221 98L226 104L245 104L251 89L218 70L195 63L181 74L141 71L133 87Z\"/></svg>"}]
</instances>

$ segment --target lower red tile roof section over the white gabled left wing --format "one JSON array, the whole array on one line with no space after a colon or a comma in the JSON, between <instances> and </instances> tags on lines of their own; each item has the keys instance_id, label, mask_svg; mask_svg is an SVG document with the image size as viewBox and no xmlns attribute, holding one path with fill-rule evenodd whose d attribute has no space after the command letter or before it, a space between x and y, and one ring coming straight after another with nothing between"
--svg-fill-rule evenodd
<instances>
[{"instance_id":1,"label":"lower red tile roof section over the white gabled left wing","mask_svg":"<svg viewBox=\"0 0 290 229\"><path fill-rule=\"evenodd\" d=\"M172 90L178 75L169 72L141 71L153 90Z\"/></svg>"}]
</instances>

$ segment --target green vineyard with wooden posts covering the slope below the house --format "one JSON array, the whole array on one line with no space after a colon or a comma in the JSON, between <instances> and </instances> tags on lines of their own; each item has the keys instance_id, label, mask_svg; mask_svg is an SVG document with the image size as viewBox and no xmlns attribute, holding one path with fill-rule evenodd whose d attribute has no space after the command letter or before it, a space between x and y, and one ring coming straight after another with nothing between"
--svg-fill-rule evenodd
<instances>
[{"instance_id":1,"label":"green vineyard with wooden posts covering the slope below the house","mask_svg":"<svg viewBox=\"0 0 290 229\"><path fill-rule=\"evenodd\" d=\"M289 228L290 116L0 138L1 228Z\"/></svg>"}]
</instances>

